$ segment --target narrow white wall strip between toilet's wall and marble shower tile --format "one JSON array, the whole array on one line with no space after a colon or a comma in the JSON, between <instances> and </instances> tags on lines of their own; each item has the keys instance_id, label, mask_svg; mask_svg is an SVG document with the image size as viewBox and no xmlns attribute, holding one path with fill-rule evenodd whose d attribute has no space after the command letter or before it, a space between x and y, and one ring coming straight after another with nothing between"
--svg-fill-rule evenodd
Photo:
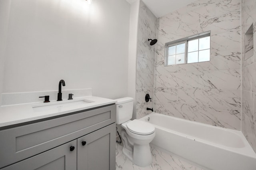
<instances>
[{"instance_id":1,"label":"narrow white wall strip between toilet's wall and marble shower tile","mask_svg":"<svg viewBox=\"0 0 256 170\"><path fill-rule=\"evenodd\" d=\"M137 57L137 35L140 0L130 6L130 34L128 54L128 92L127 96L134 98L133 119L136 119L136 57Z\"/></svg>"}]
</instances>

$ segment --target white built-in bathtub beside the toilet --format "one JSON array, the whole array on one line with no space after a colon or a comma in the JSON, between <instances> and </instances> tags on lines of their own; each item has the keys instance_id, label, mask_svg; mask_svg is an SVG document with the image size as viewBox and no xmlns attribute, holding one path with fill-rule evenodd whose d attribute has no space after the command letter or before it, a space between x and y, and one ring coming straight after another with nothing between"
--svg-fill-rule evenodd
<instances>
[{"instance_id":1,"label":"white built-in bathtub beside the toilet","mask_svg":"<svg viewBox=\"0 0 256 170\"><path fill-rule=\"evenodd\" d=\"M150 117L150 121L148 121ZM211 170L256 170L256 154L241 131L151 113L152 144Z\"/></svg>"}]
</instances>

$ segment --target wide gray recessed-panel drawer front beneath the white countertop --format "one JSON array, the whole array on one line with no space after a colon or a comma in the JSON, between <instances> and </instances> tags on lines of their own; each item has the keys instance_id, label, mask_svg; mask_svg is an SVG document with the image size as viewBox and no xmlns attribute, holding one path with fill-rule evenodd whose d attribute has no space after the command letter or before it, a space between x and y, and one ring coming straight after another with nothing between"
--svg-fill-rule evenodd
<instances>
[{"instance_id":1,"label":"wide gray recessed-panel drawer front beneath the white countertop","mask_svg":"<svg viewBox=\"0 0 256 170\"><path fill-rule=\"evenodd\" d=\"M96 131L116 121L116 105L78 111L0 131L0 168Z\"/></svg>"}]
</instances>

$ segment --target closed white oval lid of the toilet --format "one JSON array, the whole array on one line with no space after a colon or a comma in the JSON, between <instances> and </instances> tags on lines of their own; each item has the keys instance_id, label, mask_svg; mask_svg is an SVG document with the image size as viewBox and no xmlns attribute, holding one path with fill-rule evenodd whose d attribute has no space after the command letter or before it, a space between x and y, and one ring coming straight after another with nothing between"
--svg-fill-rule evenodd
<instances>
[{"instance_id":1,"label":"closed white oval lid of the toilet","mask_svg":"<svg viewBox=\"0 0 256 170\"><path fill-rule=\"evenodd\" d=\"M127 123L127 129L132 133L137 133L141 135L149 135L155 131L155 127L148 122L140 121L138 119L134 119Z\"/></svg>"}]
</instances>

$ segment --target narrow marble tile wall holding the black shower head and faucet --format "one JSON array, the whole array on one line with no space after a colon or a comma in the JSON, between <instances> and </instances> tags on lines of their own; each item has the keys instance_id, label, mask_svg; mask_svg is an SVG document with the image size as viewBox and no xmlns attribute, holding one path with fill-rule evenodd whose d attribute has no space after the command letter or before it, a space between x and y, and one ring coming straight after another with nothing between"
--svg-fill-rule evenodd
<instances>
[{"instance_id":1,"label":"narrow marble tile wall holding the black shower head and faucet","mask_svg":"<svg viewBox=\"0 0 256 170\"><path fill-rule=\"evenodd\" d=\"M156 16L140 1L138 20L137 70L136 70L136 118L139 119L151 111L154 99L154 64L156 45L150 45L148 39L156 38ZM146 102L149 94L152 102Z\"/></svg>"}]
</instances>

